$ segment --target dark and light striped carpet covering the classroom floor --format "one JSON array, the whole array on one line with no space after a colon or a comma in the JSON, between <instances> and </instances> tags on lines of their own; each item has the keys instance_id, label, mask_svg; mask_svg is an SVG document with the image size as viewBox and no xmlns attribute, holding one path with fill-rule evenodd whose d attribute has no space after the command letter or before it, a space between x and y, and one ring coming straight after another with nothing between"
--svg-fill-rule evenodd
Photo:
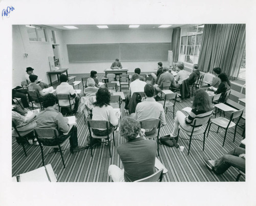
<instances>
[{"instance_id":1,"label":"dark and light striped carpet covering the classroom floor","mask_svg":"<svg viewBox=\"0 0 256 206\"><path fill-rule=\"evenodd\" d=\"M89 77L88 74L72 74L76 76L76 80L80 80L81 77ZM103 74L98 74L98 78L103 77ZM54 84L54 88L58 83ZM82 84L79 85L82 89ZM127 90L122 90L127 93ZM175 112L181 110L186 106L190 106L190 99L184 100L182 103L176 103ZM124 107L124 102L122 103ZM230 113L226 112L226 116L229 117ZM124 117L124 112L122 112ZM88 135L88 126L84 124L84 118L81 112L76 115L77 129L78 129L78 144L86 144L86 137ZM174 128L174 120L172 113L168 112L166 115L167 125L160 130L160 136L170 133ZM211 130L217 131L217 127L211 126ZM233 129L230 129L233 131ZM166 147L160 145L160 156L158 157L163 165L167 168L168 172L164 175L163 181L175 181L175 182L199 182L199 181L234 181L238 175L238 170L230 167L224 174L216 175L207 169L202 161L202 157L206 156L211 159L222 156L234 147L240 145L242 140L242 129L238 127L236 140L232 142L232 133L227 133L225 146L222 147L224 133L209 132L209 136L205 142L205 150L202 151L203 143L200 141L192 141L190 153L187 155L188 141L179 139L178 144L185 147L184 152L180 152L175 147ZM184 133L180 133L181 138L186 138ZM203 139L200 136L199 139ZM90 150L83 150L71 154L69 151L69 143L63 146L63 156L66 164L66 168L63 168L63 164L59 153L52 152L51 149L44 148L45 164L51 164L55 174L57 174L57 180L59 182L110 182L111 179L108 176L108 167L111 164L115 164L122 168L122 163L117 154L117 146L124 143L125 140L120 137L119 133L115 133L116 146L111 143L112 158L110 158L108 146L101 144L93 149L93 157L91 157ZM154 140L150 140L154 141ZM21 145L18 145L15 138L12 138L12 176L20 173L25 173L34 170L42 166L41 153L39 146L25 145L27 151L27 157L24 154ZM240 177L240 181L245 181L244 177Z\"/></svg>"}]
</instances>

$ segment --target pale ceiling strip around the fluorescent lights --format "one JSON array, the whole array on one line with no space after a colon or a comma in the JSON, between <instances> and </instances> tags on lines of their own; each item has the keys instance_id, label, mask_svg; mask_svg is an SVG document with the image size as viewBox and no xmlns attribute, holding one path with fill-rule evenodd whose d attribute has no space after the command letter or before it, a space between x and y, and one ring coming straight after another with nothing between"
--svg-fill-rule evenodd
<instances>
[{"instance_id":1,"label":"pale ceiling strip around the fluorescent lights","mask_svg":"<svg viewBox=\"0 0 256 206\"><path fill-rule=\"evenodd\" d=\"M92 29L99 29L97 25L45 25L48 27L52 27L55 29L60 29L60 30L75 30L75 29L67 29L63 26L75 26L79 30L92 30ZM180 27L183 25L177 25L174 24L168 28L158 28L159 25L140 25L139 28L129 28L129 25L108 25L109 29L174 29L176 27Z\"/></svg>"}]
</instances>

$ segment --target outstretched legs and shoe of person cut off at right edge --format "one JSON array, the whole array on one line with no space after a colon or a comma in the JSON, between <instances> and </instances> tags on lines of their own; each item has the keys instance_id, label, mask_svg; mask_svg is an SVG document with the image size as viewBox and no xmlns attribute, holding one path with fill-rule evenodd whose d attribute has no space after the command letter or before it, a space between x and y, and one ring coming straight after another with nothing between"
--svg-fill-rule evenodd
<instances>
[{"instance_id":1,"label":"outstretched legs and shoe of person cut off at right edge","mask_svg":"<svg viewBox=\"0 0 256 206\"><path fill-rule=\"evenodd\" d=\"M203 161L206 166L216 174L223 174L230 166L245 172L245 149L237 147L218 159L211 160L203 158Z\"/></svg>"}]
</instances>

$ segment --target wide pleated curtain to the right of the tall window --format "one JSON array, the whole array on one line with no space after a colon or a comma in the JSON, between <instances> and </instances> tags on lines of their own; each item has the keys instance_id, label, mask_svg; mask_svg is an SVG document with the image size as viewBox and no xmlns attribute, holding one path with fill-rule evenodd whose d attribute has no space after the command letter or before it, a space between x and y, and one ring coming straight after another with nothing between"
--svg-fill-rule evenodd
<instances>
[{"instance_id":1,"label":"wide pleated curtain to the right of the tall window","mask_svg":"<svg viewBox=\"0 0 256 206\"><path fill-rule=\"evenodd\" d=\"M245 50L245 24L204 25L199 68L212 72L220 67L229 79L238 77Z\"/></svg>"}]
</instances>

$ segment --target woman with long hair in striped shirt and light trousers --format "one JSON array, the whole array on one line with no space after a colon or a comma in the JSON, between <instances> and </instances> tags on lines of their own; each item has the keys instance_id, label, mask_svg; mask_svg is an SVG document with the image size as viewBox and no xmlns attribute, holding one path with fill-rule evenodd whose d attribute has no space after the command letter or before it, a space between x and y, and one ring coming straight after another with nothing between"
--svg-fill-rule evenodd
<instances>
[{"instance_id":1,"label":"woman with long hair in striped shirt and light trousers","mask_svg":"<svg viewBox=\"0 0 256 206\"><path fill-rule=\"evenodd\" d=\"M182 126L183 129L187 131L192 131L193 120L197 117L205 117L212 113L212 103L209 95L206 93L204 89L196 90L196 94L194 96L192 110L189 115L186 117L182 111L176 112L175 117L175 125L174 130L170 134L170 136L177 136L179 125ZM194 131L199 130L202 125L199 125L195 128Z\"/></svg>"}]
</instances>

